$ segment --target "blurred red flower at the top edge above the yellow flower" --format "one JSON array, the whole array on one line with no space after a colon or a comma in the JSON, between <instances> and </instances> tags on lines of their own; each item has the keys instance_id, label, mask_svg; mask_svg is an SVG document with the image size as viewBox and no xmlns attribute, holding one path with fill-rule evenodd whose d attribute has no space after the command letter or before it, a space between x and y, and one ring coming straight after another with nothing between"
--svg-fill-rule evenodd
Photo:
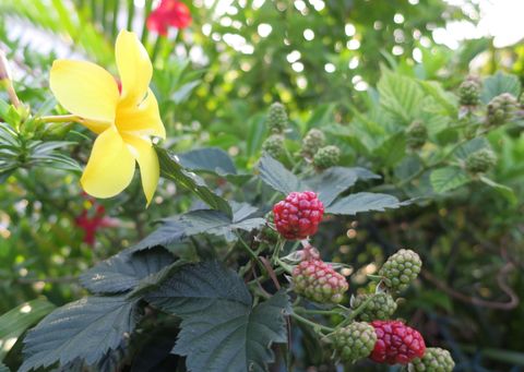
<instances>
[{"instance_id":1,"label":"blurred red flower at the top edge above the yellow flower","mask_svg":"<svg viewBox=\"0 0 524 372\"><path fill-rule=\"evenodd\" d=\"M147 17L147 28L163 36L167 35L169 26L186 28L191 24L189 8L178 0L162 0L158 8Z\"/></svg>"}]
</instances>

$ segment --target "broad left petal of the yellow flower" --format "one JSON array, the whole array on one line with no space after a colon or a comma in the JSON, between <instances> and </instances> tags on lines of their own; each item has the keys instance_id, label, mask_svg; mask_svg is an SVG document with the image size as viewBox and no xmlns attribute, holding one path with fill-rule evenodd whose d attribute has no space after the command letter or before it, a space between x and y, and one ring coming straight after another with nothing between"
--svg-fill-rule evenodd
<instances>
[{"instance_id":1,"label":"broad left petal of the yellow flower","mask_svg":"<svg viewBox=\"0 0 524 372\"><path fill-rule=\"evenodd\" d=\"M91 62L56 60L49 84L60 105L78 115L99 133L115 120L118 86L109 72ZM96 125L95 125L96 124ZM96 128L96 130L95 130Z\"/></svg>"}]
</instances>

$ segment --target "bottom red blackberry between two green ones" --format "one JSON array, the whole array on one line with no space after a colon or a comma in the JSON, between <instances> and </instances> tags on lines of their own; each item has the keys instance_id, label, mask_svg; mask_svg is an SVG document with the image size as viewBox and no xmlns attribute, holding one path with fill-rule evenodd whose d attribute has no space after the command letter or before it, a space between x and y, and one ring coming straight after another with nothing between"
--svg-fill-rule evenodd
<instances>
[{"instance_id":1,"label":"bottom red blackberry between two green ones","mask_svg":"<svg viewBox=\"0 0 524 372\"><path fill-rule=\"evenodd\" d=\"M426 344L422 336L398 321L374 321L377 343L370 358L378 363L407 364L422 358Z\"/></svg>"}]
</instances>

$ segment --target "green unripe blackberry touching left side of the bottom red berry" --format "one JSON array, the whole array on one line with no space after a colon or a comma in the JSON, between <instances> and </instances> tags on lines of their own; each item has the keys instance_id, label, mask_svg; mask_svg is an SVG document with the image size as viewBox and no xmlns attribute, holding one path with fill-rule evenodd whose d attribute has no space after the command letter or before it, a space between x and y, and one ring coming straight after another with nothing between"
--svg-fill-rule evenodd
<instances>
[{"instance_id":1,"label":"green unripe blackberry touching left side of the bottom red berry","mask_svg":"<svg viewBox=\"0 0 524 372\"><path fill-rule=\"evenodd\" d=\"M342 360L356 362L367 358L377 343L377 333L368 323L354 322L330 335L333 348Z\"/></svg>"}]
</instances>

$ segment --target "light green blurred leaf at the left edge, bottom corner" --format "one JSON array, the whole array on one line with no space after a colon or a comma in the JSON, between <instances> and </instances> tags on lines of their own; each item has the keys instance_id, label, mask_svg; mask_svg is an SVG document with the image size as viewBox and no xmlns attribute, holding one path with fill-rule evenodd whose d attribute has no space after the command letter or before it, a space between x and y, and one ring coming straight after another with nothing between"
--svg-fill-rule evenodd
<instances>
[{"instance_id":1,"label":"light green blurred leaf at the left edge, bottom corner","mask_svg":"<svg viewBox=\"0 0 524 372\"><path fill-rule=\"evenodd\" d=\"M11 345L33 324L55 310L55 305L45 300L36 299L8 311L0 316L0 360L11 349Z\"/></svg>"}]
</instances>

